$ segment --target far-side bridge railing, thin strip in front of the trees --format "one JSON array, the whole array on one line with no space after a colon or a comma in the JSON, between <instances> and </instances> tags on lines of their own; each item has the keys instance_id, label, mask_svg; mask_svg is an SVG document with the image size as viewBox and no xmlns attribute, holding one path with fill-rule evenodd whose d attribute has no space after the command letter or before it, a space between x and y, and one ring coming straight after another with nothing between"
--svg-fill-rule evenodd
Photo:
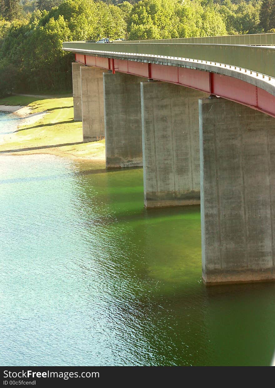
<instances>
[{"instance_id":1,"label":"far-side bridge railing, thin strip in front of the trees","mask_svg":"<svg viewBox=\"0 0 275 388\"><path fill-rule=\"evenodd\" d=\"M127 43L127 41L114 41L113 43ZM246 35L221 35L203 36L200 38L177 38L159 40L131 40L129 43L208 43L222 45L275 45L275 33L269 34L246 34Z\"/></svg>"}]
</instances>

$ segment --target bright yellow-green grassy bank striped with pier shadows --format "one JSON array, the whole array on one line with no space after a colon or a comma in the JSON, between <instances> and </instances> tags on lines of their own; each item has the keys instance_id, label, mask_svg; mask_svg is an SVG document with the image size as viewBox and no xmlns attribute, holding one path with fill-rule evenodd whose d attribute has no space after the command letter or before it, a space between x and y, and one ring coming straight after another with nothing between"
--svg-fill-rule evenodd
<instances>
[{"instance_id":1,"label":"bright yellow-green grassy bank striped with pier shadows","mask_svg":"<svg viewBox=\"0 0 275 388\"><path fill-rule=\"evenodd\" d=\"M35 123L22 121L14 133L4 135L0 152L5 154L48 153L70 158L105 160L105 142L82 143L82 123L73 121L73 98L11 96L0 99L0 105L28 106L37 115Z\"/></svg>"}]
</instances>

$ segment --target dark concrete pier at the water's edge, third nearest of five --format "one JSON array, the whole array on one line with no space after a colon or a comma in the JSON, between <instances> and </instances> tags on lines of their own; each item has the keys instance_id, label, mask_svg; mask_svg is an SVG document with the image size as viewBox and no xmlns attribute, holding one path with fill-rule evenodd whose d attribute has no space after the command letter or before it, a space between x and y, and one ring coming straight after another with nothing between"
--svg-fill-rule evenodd
<instances>
[{"instance_id":1,"label":"dark concrete pier at the water's edge, third nearest of five","mask_svg":"<svg viewBox=\"0 0 275 388\"><path fill-rule=\"evenodd\" d=\"M142 166L140 83L144 78L104 73L106 167Z\"/></svg>"}]
</instances>

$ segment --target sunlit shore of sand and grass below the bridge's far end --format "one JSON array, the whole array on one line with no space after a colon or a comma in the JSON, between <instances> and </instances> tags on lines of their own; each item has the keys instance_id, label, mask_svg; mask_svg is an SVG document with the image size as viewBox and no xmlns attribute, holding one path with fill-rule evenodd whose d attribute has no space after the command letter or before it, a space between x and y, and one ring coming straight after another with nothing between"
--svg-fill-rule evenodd
<instances>
[{"instance_id":1,"label":"sunlit shore of sand and grass below the bridge's far end","mask_svg":"<svg viewBox=\"0 0 275 388\"><path fill-rule=\"evenodd\" d=\"M9 103L0 105L0 111L18 116L20 123L14 132L0 135L0 156L52 154L82 162L105 162L105 140L83 142L82 122L73 120L72 97L38 98L26 106L12 105L12 100Z\"/></svg>"}]
</instances>

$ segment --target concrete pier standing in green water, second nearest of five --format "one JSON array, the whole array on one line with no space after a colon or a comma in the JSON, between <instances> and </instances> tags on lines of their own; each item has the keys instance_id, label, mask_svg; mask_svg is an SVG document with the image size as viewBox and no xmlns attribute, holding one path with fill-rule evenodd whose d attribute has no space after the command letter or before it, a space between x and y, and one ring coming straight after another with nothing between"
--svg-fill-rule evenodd
<instances>
[{"instance_id":1,"label":"concrete pier standing in green water, second nearest of five","mask_svg":"<svg viewBox=\"0 0 275 388\"><path fill-rule=\"evenodd\" d=\"M198 99L204 92L141 83L144 204L200 203Z\"/></svg>"}]
</instances>

